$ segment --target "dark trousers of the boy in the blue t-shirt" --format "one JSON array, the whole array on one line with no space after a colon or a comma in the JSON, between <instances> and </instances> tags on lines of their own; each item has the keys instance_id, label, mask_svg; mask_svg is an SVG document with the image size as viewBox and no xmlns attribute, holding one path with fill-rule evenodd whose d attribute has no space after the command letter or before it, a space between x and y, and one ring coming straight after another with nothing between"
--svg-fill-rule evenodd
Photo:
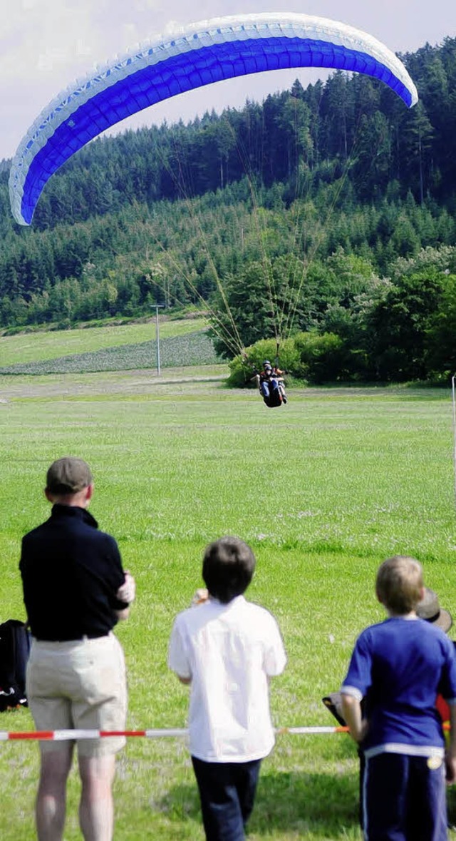
<instances>
[{"instance_id":1,"label":"dark trousers of the boy in the blue t-shirt","mask_svg":"<svg viewBox=\"0 0 456 841\"><path fill-rule=\"evenodd\" d=\"M405 754L366 759L363 796L366 841L447 841L443 759L440 764Z\"/></svg>"}]
</instances>

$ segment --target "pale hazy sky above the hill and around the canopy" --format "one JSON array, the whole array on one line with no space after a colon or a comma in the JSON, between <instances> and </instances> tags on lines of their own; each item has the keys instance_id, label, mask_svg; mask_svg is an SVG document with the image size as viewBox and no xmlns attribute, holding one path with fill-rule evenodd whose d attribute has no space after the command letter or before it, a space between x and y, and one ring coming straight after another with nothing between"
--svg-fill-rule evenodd
<instances>
[{"instance_id":1,"label":"pale hazy sky above the hill and around the canopy","mask_svg":"<svg viewBox=\"0 0 456 841\"><path fill-rule=\"evenodd\" d=\"M455 0L0 0L0 160L52 98L95 66L134 45L200 20L255 12L299 12L364 29L390 50L413 52L456 36ZM111 134L143 125L187 122L215 108L242 108L268 93L304 86L323 71L259 73L181 94L119 123Z\"/></svg>"}]
</instances>

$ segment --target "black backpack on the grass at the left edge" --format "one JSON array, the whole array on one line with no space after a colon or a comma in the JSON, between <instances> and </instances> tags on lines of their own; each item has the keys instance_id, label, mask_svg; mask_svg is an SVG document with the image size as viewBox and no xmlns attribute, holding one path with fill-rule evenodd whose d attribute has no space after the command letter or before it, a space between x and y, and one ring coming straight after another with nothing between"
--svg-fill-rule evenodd
<instances>
[{"instance_id":1,"label":"black backpack on the grass at the left edge","mask_svg":"<svg viewBox=\"0 0 456 841\"><path fill-rule=\"evenodd\" d=\"M30 632L24 622L8 619L0 625L0 712L27 706L25 668Z\"/></svg>"}]
</instances>

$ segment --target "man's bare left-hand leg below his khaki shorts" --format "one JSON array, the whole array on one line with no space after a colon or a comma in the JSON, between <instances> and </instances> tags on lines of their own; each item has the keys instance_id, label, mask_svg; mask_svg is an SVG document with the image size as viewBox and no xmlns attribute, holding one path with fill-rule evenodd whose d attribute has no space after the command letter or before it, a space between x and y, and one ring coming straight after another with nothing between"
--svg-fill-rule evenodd
<instances>
[{"instance_id":1,"label":"man's bare left-hand leg below his khaki shorts","mask_svg":"<svg viewBox=\"0 0 456 841\"><path fill-rule=\"evenodd\" d=\"M36 797L36 831L39 841L61 841L65 826L66 780L71 769L73 744L62 743L59 750L41 754Z\"/></svg>"}]
</instances>

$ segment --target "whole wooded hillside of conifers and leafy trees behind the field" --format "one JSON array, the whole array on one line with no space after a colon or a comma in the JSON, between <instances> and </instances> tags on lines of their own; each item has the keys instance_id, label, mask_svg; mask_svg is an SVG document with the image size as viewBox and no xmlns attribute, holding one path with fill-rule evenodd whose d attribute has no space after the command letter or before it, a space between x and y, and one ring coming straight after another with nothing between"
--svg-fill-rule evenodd
<instances>
[{"instance_id":1,"label":"whole wooded hillside of conifers and leafy trees behind the field","mask_svg":"<svg viewBox=\"0 0 456 841\"><path fill-rule=\"evenodd\" d=\"M312 382L447 382L456 39L401 59L420 97L410 110L338 71L95 140L50 179L29 229L0 162L0 330L197 307L230 359L280 341Z\"/></svg>"}]
</instances>

